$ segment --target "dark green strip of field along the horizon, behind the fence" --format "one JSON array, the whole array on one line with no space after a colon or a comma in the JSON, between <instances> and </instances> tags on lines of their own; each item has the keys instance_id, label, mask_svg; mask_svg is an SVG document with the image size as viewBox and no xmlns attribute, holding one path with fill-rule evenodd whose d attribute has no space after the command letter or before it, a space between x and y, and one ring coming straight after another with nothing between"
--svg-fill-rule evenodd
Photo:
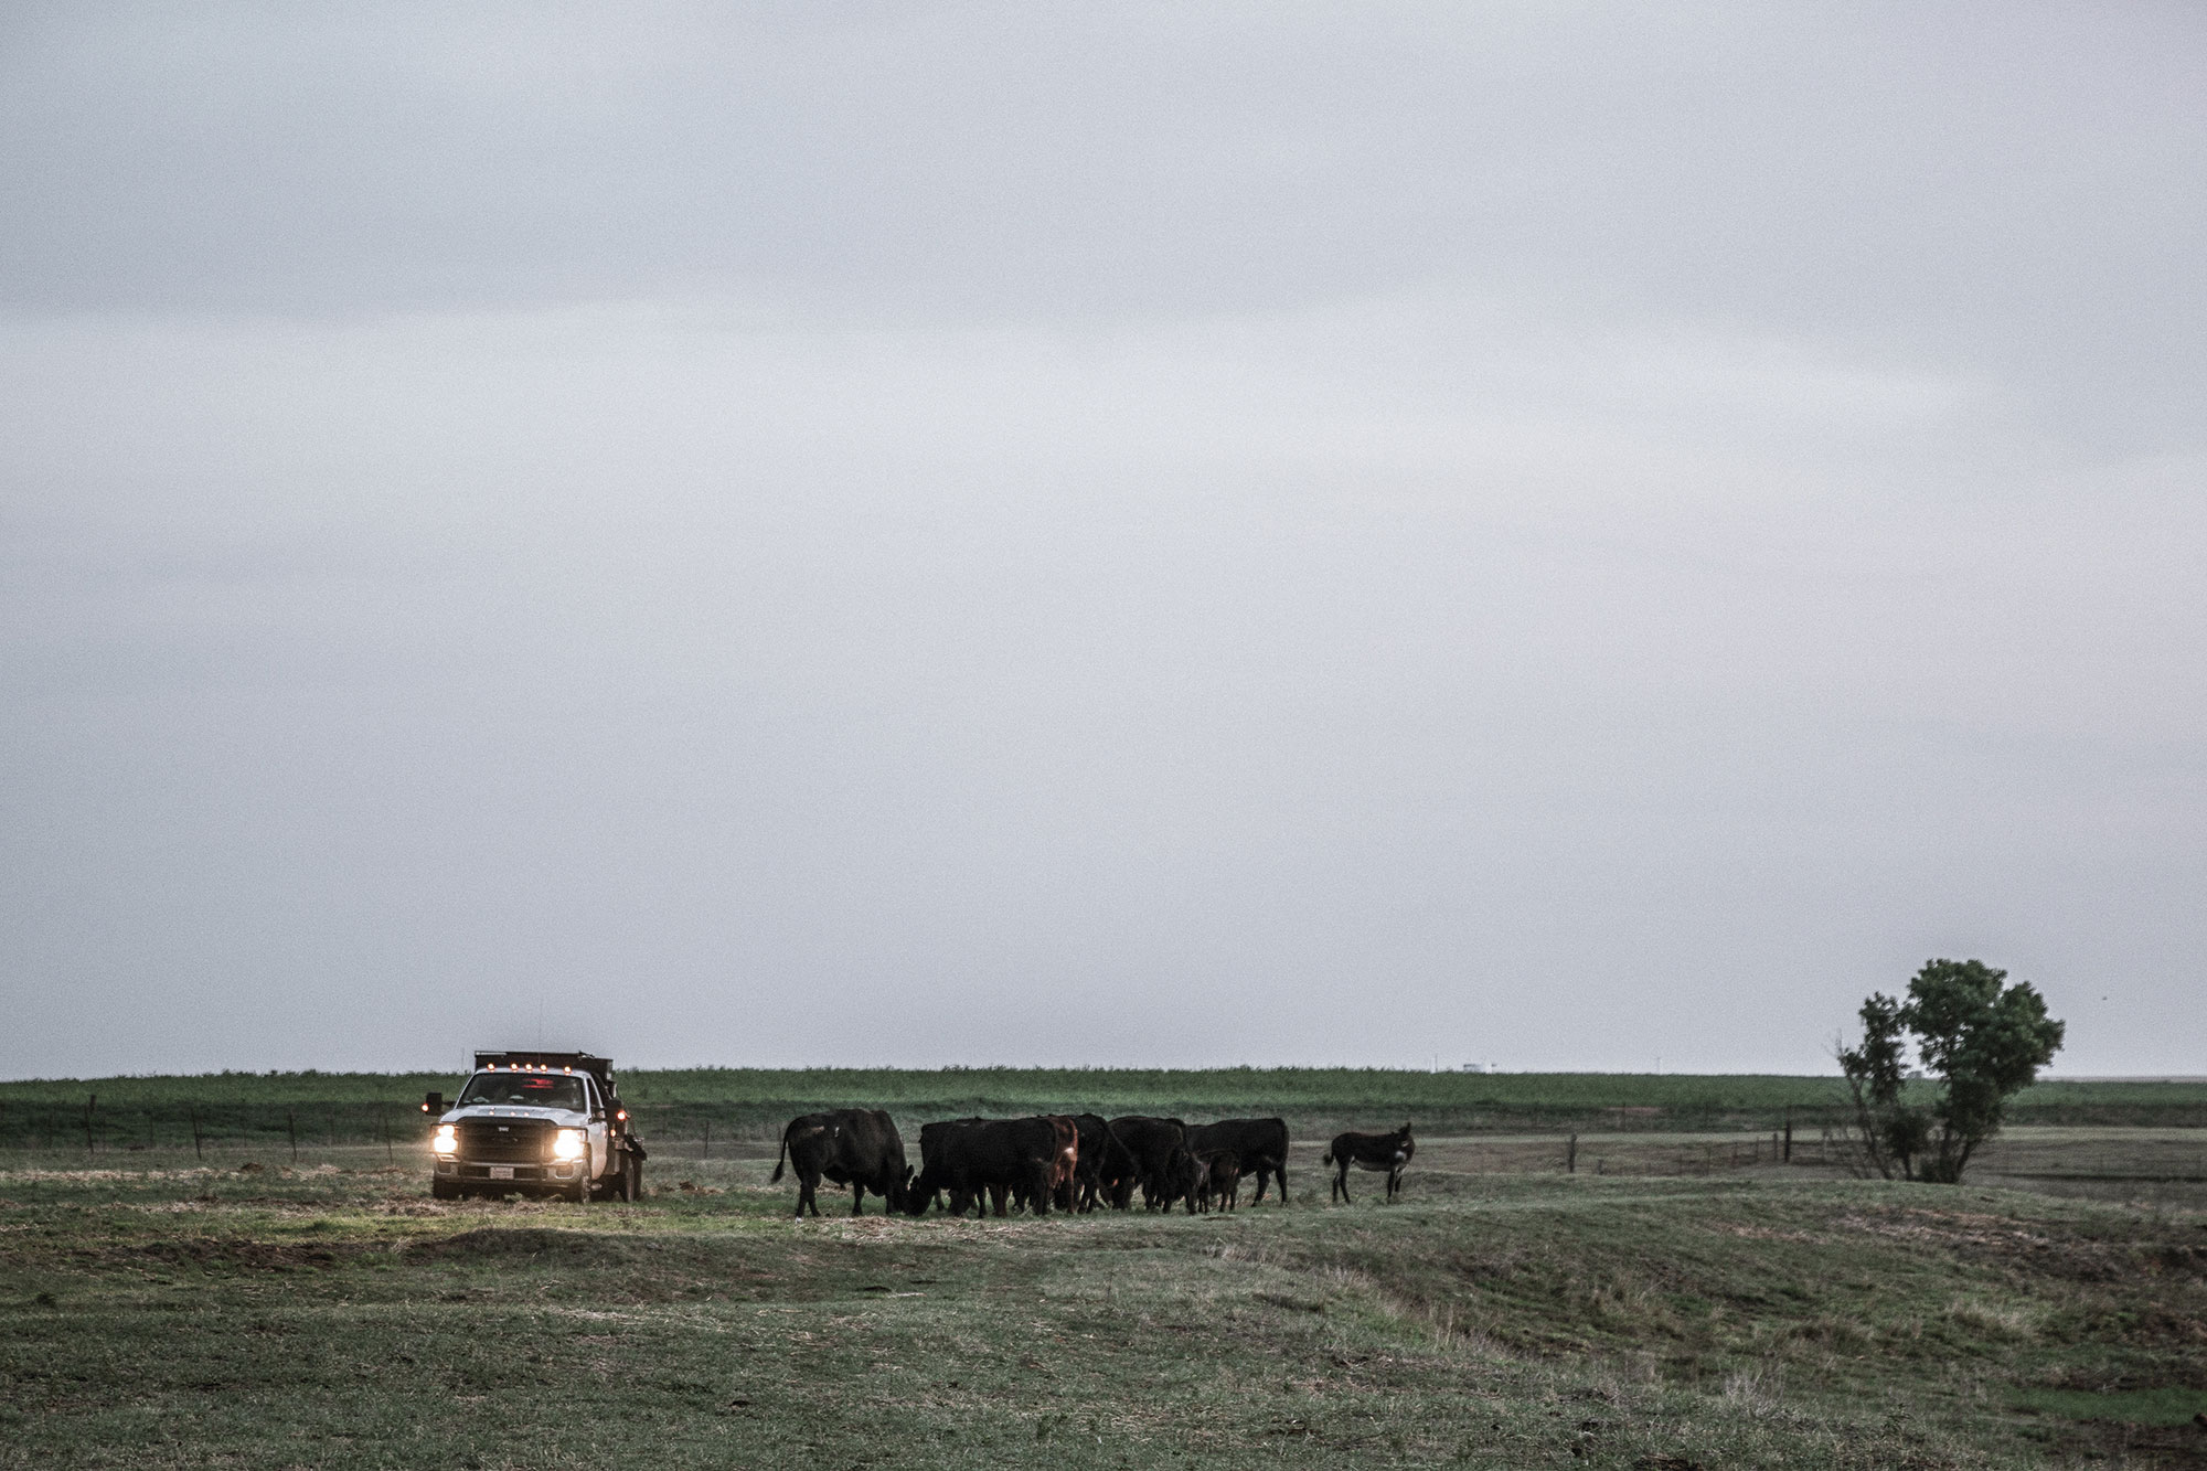
<instances>
[{"instance_id":1,"label":"dark green strip of field along the horizon, behind the fence","mask_svg":"<svg viewBox=\"0 0 2207 1471\"><path fill-rule=\"evenodd\" d=\"M404 1144L422 1093L459 1073L210 1073L0 1082L0 1149L128 1151L203 1140ZM1379 1069L689 1069L622 1073L622 1096L660 1142L768 1137L814 1109L889 1109L900 1122L969 1113L1097 1111L1220 1118L1278 1113L1300 1133L1680 1129L1768 1133L1790 1115L1845 1115L1838 1078L1691 1073L1410 1073ZM97 1102L95 1102L97 1100ZM2019 1124L2207 1126L2200 1082L2041 1082Z\"/></svg>"}]
</instances>

